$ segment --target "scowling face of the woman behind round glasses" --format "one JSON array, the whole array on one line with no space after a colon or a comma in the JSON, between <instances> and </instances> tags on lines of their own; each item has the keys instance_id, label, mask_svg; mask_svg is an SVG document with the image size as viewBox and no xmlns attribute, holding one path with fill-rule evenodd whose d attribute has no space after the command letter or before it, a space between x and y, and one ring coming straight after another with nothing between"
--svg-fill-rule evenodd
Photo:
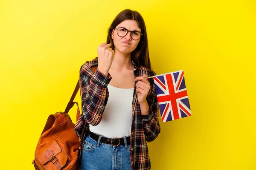
<instances>
[{"instance_id":1,"label":"scowling face of the woman behind round glasses","mask_svg":"<svg viewBox=\"0 0 256 170\"><path fill-rule=\"evenodd\" d=\"M116 28L124 27L128 30L128 33L125 37L119 37L117 34L117 29L113 29L111 37L113 39L114 45L115 45L115 51L118 50L123 54L131 53L135 50L137 45L140 42L139 40L133 40L131 38L131 32L130 31L140 31L141 29L138 26L137 21L135 20L124 20L119 25L116 26Z\"/></svg>"}]
</instances>

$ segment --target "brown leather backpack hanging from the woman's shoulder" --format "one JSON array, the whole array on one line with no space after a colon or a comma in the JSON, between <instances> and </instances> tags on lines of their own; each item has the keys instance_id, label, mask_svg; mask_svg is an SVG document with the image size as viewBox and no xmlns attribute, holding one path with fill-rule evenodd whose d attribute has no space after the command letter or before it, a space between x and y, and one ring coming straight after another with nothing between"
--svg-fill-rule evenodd
<instances>
[{"instance_id":1,"label":"brown leather backpack hanging from the woman's shoulder","mask_svg":"<svg viewBox=\"0 0 256 170\"><path fill-rule=\"evenodd\" d=\"M93 67L93 72L95 72ZM41 133L35 149L35 159L32 161L36 170L79 170L79 158L81 157L82 140L74 130L74 123L68 112L74 104L77 105L76 120L80 118L77 102L73 102L79 91L79 81L68 102L64 112L51 114ZM84 130L82 139L84 137Z\"/></svg>"}]
</instances>

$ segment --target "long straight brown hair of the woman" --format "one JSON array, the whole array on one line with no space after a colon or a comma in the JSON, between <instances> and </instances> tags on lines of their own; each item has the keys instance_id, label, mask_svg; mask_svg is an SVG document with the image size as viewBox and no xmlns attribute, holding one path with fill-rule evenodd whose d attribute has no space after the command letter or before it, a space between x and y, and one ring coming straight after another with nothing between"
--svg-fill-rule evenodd
<instances>
[{"instance_id":1,"label":"long straight brown hair of the woman","mask_svg":"<svg viewBox=\"0 0 256 170\"><path fill-rule=\"evenodd\" d=\"M115 17L115 19L111 23L111 26L108 28L107 44L111 43L112 49L114 49L114 47L115 47L114 42L111 38L112 30L114 28L116 28L116 26L124 20L137 21L137 23L141 29L141 33L143 34L143 36L140 37L141 40L140 40L138 46L131 53L131 60L133 62L135 62L137 65L142 65L148 69L151 69L151 63L150 63L149 54L148 54L148 37L147 37L146 26L145 26L143 17L140 15L139 12L132 11L130 9L125 9L125 10L121 11Z\"/></svg>"}]
</instances>

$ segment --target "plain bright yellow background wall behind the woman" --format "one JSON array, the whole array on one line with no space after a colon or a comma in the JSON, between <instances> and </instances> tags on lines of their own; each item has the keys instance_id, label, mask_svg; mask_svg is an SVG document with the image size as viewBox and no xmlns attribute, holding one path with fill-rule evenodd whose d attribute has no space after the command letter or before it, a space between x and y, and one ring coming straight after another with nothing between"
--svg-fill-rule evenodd
<instances>
[{"instance_id":1,"label":"plain bright yellow background wall behind the woman","mask_svg":"<svg viewBox=\"0 0 256 170\"><path fill-rule=\"evenodd\" d=\"M125 8L144 17L154 71L184 70L192 110L160 121L152 170L255 170L255 0L1 0L0 169L33 169L47 117Z\"/></svg>"}]
</instances>

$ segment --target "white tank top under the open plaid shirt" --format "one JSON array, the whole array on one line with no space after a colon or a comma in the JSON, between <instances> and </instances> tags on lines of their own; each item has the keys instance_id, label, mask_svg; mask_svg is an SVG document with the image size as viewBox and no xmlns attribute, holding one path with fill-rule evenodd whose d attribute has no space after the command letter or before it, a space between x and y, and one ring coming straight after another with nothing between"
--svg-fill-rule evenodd
<instances>
[{"instance_id":1,"label":"white tank top under the open plaid shirt","mask_svg":"<svg viewBox=\"0 0 256 170\"><path fill-rule=\"evenodd\" d=\"M90 131L108 138L130 136L134 88L116 88L108 85L108 102L101 122L89 125Z\"/></svg>"}]
</instances>

